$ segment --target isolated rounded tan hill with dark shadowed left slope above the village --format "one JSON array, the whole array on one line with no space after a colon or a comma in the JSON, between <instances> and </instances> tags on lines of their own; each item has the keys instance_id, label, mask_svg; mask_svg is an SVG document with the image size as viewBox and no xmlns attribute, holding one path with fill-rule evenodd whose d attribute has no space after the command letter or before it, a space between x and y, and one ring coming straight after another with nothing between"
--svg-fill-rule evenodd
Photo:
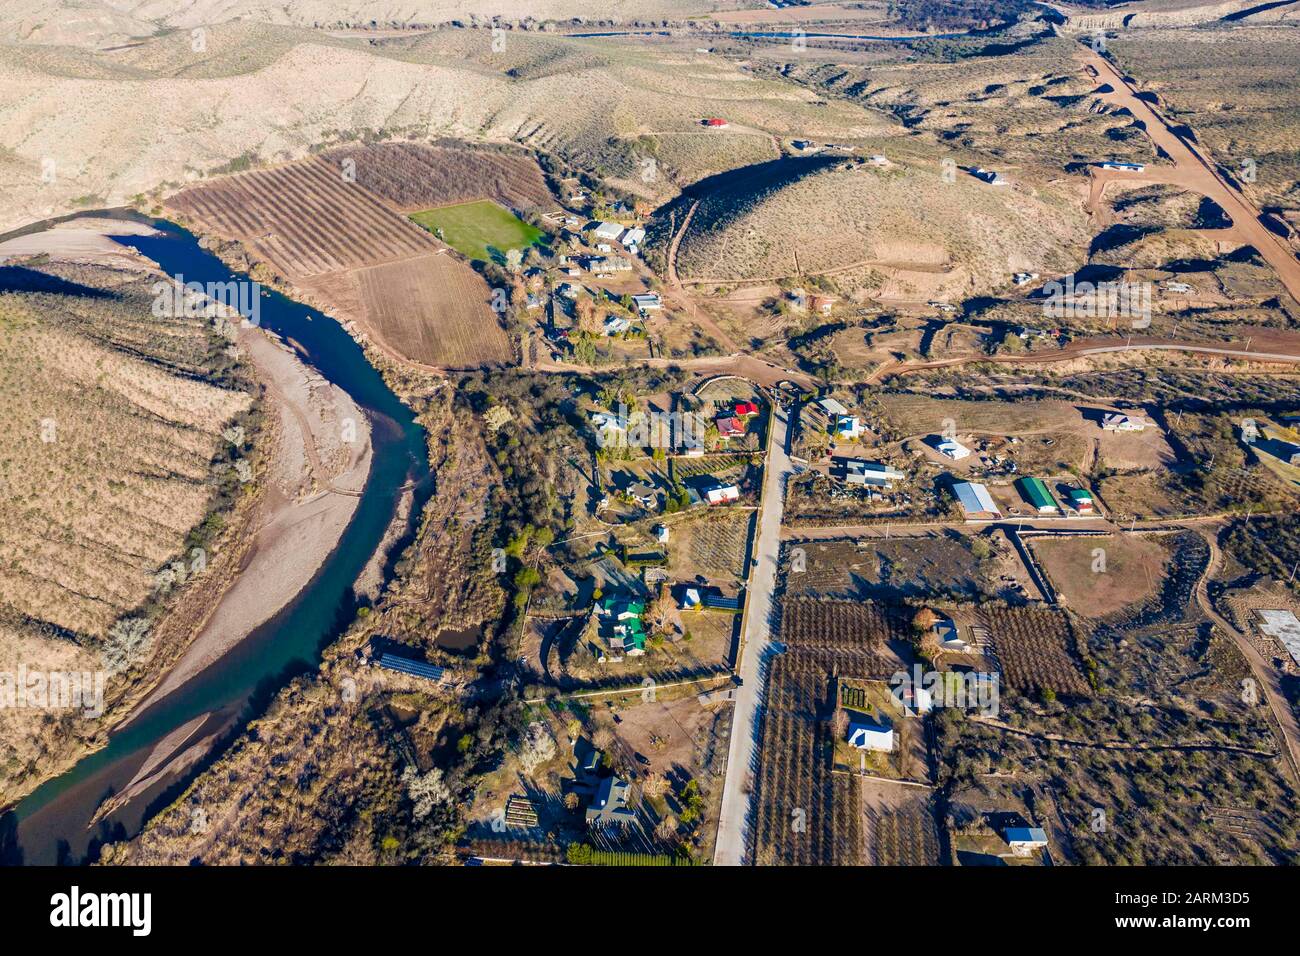
<instances>
[{"instance_id":1,"label":"isolated rounded tan hill with dark shadowed left slope above the village","mask_svg":"<svg viewBox=\"0 0 1300 956\"><path fill-rule=\"evenodd\" d=\"M1087 241L1065 191L993 187L966 172L949 182L937 164L786 160L770 170L722 177L718 190L702 185L677 251L684 280L910 267L930 277L930 294L970 295L1015 269L1069 269Z\"/></svg>"}]
</instances>

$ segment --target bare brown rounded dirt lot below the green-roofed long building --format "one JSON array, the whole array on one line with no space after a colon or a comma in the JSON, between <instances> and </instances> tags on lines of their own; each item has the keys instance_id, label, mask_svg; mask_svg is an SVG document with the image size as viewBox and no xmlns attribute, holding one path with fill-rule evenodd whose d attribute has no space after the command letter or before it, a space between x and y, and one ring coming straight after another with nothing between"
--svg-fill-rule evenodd
<instances>
[{"instance_id":1,"label":"bare brown rounded dirt lot below the green-roofed long building","mask_svg":"<svg viewBox=\"0 0 1300 956\"><path fill-rule=\"evenodd\" d=\"M1030 541L1057 596L1087 618L1104 618L1140 604L1165 580L1169 555L1149 538L1113 535Z\"/></svg>"}]
</instances>

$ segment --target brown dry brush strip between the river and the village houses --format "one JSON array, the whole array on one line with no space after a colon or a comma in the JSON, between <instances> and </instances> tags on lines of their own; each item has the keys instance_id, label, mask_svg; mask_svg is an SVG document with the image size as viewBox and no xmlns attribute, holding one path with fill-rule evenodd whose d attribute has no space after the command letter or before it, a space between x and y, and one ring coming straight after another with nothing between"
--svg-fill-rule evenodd
<instances>
[{"instance_id":1,"label":"brown dry brush strip between the river and the village houses","mask_svg":"<svg viewBox=\"0 0 1300 956\"><path fill-rule=\"evenodd\" d=\"M484 627L486 648L506 604L491 572L500 512L464 511L468 499L499 483L478 437L481 425L446 401L422 405L441 494L428 505L385 597L326 649L317 674L280 691L265 714L139 838L108 847L107 861L445 858L474 766L507 745L519 727L511 701L476 701L359 662L359 652L372 643L389 649L402 644L407 646L399 653L446 665L455 680L472 679L486 653L439 650L436 635L447 627ZM408 779L412 774L419 782ZM202 829L192 825L200 812Z\"/></svg>"}]
</instances>

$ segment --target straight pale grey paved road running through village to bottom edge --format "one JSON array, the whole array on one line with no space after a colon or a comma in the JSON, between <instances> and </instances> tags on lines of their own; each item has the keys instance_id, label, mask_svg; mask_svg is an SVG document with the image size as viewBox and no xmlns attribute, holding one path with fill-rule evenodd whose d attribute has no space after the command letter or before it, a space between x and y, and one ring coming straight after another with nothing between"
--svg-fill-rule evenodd
<instances>
[{"instance_id":1,"label":"straight pale grey paved road running through village to bottom edge","mask_svg":"<svg viewBox=\"0 0 1300 956\"><path fill-rule=\"evenodd\" d=\"M745 861L745 826L753 767L758 760L758 708L762 702L760 665L772 636L775 607L776 561L781 548L781 515L785 511L785 481L794 473L786 450L789 418L784 408L772 414L772 441L763 476L763 502L758 512L758 536L754 557L758 566L749 579L749 601L741 631L740 661L736 672L741 685L732 711L731 749L727 756L727 779L723 783L722 813L718 818L718 844L714 862L740 866Z\"/></svg>"}]
</instances>

